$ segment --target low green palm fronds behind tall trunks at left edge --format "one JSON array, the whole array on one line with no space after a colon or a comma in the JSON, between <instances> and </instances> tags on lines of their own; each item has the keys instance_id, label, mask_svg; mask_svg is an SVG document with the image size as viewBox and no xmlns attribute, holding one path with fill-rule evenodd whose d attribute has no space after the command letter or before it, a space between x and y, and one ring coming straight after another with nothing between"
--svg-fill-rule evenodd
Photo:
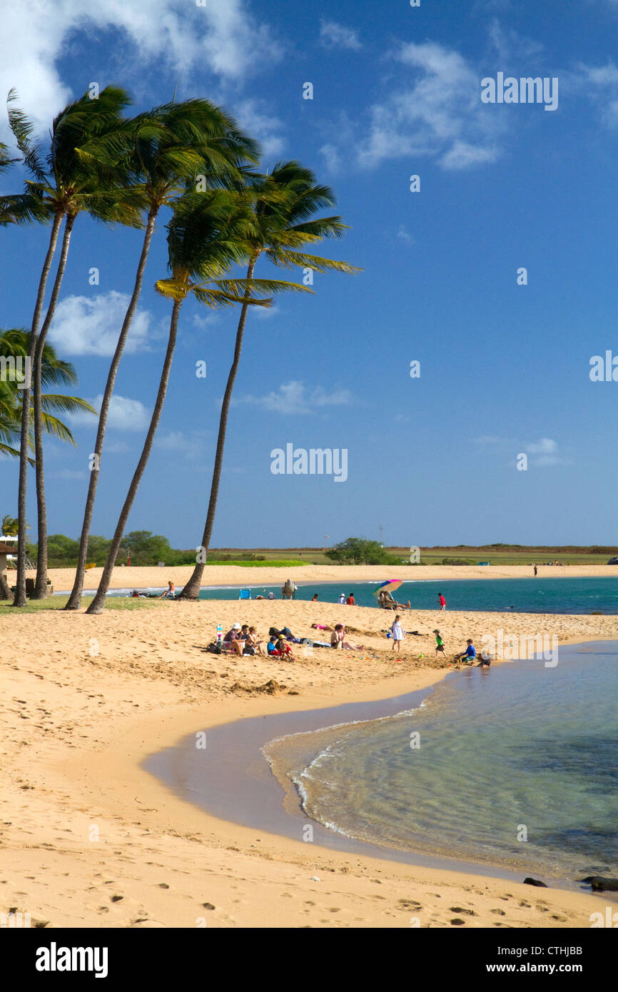
<instances>
[{"instance_id":1,"label":"low green palm fronds behind tall trunks at left edge","mask_svg":"<svg viewBox=\"0 0 618 992\"><path fill-rule=\"evenodd\" d=\"M0 332L0 358L15 360L25 359L28 355L29 334L23 327L12 327ZM74 367L70 362L60 359L56 349L46 344L43 350L42 382L49 386L71 386L77 381ZM4 376L0 380L0 454L19 458L20 451L14 445L21 433L22 404L25 389L15 375ZM75 443L70 428L56 414L74 414L96 411L76 396L65 396L63 393L44 393L42 395L43 427L47 434L58 440ZM31 426L29 447L34 447L34 431ZM32 464L32 459L29 459ZM6 532L5 532L6 533Z\"/></svg>"}]
</instances>

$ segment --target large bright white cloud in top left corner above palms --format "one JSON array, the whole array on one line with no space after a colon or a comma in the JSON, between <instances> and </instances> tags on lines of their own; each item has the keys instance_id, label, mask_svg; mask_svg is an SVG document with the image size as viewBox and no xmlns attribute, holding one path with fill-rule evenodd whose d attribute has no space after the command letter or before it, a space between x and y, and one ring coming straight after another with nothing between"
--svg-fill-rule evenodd
<instances>
[{"instance_id":1,"label":"large bright white cloud in top left corner above palms","mask_svg":"<svg viewBox=\"0 0 618 992\"><path fill-rule=\"evenodd\" d=\"M203 7L194 0L29 0L3 4L0 92L15 86L20 106L47 131L64 103L76 95L58 67L67 42L86 32L101 35L110 30L118 33L116 55L124 56L124 64L133 65L136 73L143 65L153 65L169 67L183 78L197 67L223 80L238 80L283 55L263 18L251 14L248 0L206 0ZM83 78L85 89L90 77Z\"/></svg>"}]
</instances>

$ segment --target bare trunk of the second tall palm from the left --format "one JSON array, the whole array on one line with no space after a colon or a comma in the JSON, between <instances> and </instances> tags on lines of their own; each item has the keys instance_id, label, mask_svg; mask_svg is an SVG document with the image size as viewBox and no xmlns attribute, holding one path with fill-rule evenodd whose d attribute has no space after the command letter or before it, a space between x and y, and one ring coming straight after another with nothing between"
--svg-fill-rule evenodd
<instances>
[{"instance_id":1,"label":"bare trunk of the second tall palm from the left","mask_svg":"<svg viewBox=\"0 0 618 992\"><path fill-rule=\"evenodd\" d=\"M41 402L41 372L43 365L43 349L48 336L50 324L54 318L58 297L61 292L62 277L66 268L66 256L70 243L70 232L73 229L76 214L67 214L64 221L64 236L62 238L61 257L58 263L54 288L48 305L37 348L33 367L33 413L35 421L35 459L37 473L37 511L38 511L38 550L37 550L37 580L32 599L46 599L48 595L48 512L45 501L45 474L43 470L43 406Z\"/></svg>"}]
</instances>

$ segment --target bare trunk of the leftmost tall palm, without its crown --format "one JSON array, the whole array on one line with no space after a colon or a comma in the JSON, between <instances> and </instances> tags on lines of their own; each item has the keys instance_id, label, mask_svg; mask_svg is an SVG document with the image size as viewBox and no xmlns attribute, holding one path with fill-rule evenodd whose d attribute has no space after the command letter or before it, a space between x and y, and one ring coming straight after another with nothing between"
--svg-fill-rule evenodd
<instances>
[{"instance_id":1,"label":"bare trunk of the leftmost tall palm, without its crown","mask_svg":"<svg viewBox=\"0 0 618 992\"><path fill-rule=\"evenodd\" d=\"M39 292L37 293L37 303L35 305L35 312L33 313L32 325L30 328L28 358L31 372L33 359L35 357L35 348L37 346L37 334L39 332L39 322L41 320L41 312L43 310L45 290L48 284L50 269L52 268L52 261L56 251L61 224L62 212L59 211L54 215L52 233L50 234L50 244L48 246L48 253L45 257L45 262L43 263L41 279L39 280ZM26 599L26 489L28 484L28 447L30 443L31 393L32 387L29 385L24 390L24 395L22 397L22 431L19 451L19 488L17 498L17 519L19 520L19 541L17 544L17 588L15 591L13 606L26 606L28 601Z\"/></svg>"}]
</instances>

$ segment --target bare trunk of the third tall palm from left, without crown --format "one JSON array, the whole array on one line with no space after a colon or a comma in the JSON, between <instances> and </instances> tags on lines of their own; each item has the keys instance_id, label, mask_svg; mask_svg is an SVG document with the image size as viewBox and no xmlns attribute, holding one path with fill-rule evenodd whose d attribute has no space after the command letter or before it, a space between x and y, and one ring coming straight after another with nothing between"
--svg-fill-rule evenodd
<instances>
[{"instance_id":1,"label":"bare trunk of the third tall palm from left, without crown","mask_svg":"<svg viewBox=\"0 0 618 992\"><path fill-rule=\"evenodd\" d=\"M83 576L85 573L85 564L88 555L88 538L90 537L90 525L92 523L92 513L94 511L94 498L96 496L96 486L98 483L98 477L100 471L101 452L103 450L103 439L105 437L105 429L107 427L107 416L109 414L109 405L111 403L112 393L114 391L114 384L116 382L116 373L118 372L118 366L120 365L120 359L122 358L122 353L124 351L124 346L127 340L127 334L129 333L131 321L133 320L133 316L137 308L138 300L140 299L140 294L142 292L144 271L146 269L146 261L148 259L148 253L150 251L150 243L152 241L153 231L155 230L155 221L157 219L158 209L159 209L158 207L153 207L150 213L148 214L146 232L144 234L144 244L142 245L142 254L140 255L140 261L135 276L135 284L133 286L133 295L131 296L129 307L127 308L127 312L125 313L125 317L122 322L122 328L120 330L120 336L118 337L118 343L116 344L114 357L112 358L111 365L109 366L109 372L107 374L107 382L105 383L105 392L103 393L103 399L101 400L101 410L99 413L99 422L96 430L96 440L94 442L93 454L95 455L95 457L92 459L92 467L90 469L90 481L88 483L88 494L86 496L86 504L83 512L83 522L81 525L81 536L79 538L79 552L77 555L77 568L75 571L75 580L73 582L73 587L70 596L68 597L68 602L64 606L65 610L78 610L81 605Z\"/></svg>"}]
</instances>

